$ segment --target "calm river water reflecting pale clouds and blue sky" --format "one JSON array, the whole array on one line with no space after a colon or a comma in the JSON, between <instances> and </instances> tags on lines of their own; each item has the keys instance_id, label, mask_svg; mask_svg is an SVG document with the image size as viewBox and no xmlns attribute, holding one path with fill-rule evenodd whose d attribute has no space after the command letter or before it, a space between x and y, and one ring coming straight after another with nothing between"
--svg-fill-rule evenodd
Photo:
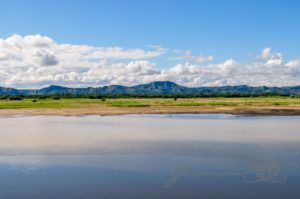
<instances>
[{"instance_id":1,"label":"calm river water reflecting pale clouds and blue sky","mask_svg":"<svg viewBox=\"0 0 300 199\"><path fill-rule=\"evenodd\" d=\"M0 118L0 199L299 195L300 117Z\"/></svg>"}]
</instances>

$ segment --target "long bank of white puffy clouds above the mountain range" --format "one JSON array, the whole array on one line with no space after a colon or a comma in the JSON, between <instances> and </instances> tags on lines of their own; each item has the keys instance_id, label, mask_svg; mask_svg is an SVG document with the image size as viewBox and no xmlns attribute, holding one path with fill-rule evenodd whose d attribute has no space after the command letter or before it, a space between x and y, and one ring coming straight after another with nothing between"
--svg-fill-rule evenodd
<instances>
[{"instance_id":1,"label":"long bank of white puffy clouds above the mountain range","mask_svg":"<svg viewBox=\"0 0 300 199\"><path fill-rule=\"evenodd\" d=\"M300 85L300 60L285 62L281 53L263 49L259 61L228 59L213 63L213 56L182 53L170 67L153 62L168 59L160 46L124 49L60 44L41 35L12 35L0 39L0 85L40 88L50 84L86 87L134 85L156 80L186 86L290 86ZM178 55L178 54L176 54ZM206 64L205 64L206 63Z\"/></svg>"}]
</instances>

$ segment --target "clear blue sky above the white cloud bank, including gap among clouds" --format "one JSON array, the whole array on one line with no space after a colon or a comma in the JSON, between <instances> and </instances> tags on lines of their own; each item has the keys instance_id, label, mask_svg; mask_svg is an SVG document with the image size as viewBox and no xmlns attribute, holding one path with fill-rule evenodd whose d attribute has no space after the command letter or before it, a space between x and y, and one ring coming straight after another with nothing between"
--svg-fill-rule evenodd
<instances>
[{"instance_id":1,"label":"clear blue sky above the white cloud bank, including gap among clouds","mask_svg":"<svg viewBox=\"0 0 300 199\"><path fill-rule=\"evenodd\" d=\"M0 38L39 34L58 44L157 45L169 49L151 58L158 69L179 64L174 51L213 56L215 64L251 63L270 47L290 61L300 57L299 13L295 0L1 0Z\"/></svg>"}]
</instances>

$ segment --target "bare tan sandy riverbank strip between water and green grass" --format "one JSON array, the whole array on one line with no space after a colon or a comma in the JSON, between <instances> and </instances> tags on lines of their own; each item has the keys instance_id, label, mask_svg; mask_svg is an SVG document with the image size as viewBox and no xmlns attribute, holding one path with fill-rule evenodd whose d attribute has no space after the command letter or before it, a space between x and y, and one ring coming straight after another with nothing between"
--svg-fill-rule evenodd
<instances>
[{"instance_id":1,"label":"bare tan sandy riverbank strip between water and green grass","mask_svg":"<svg viewBox=\"0 0 300 199\"><path fill-rule=\"evenodd\" d=\"M155 106L155 107L107 107L89 106L82 108L20 108L0 109L0 116L13 115L124 115L124 114L180 114L180 113L224 113L234 115L300 115L300 107L199 107L199 106Z\"/></svg>"}]
</instances>

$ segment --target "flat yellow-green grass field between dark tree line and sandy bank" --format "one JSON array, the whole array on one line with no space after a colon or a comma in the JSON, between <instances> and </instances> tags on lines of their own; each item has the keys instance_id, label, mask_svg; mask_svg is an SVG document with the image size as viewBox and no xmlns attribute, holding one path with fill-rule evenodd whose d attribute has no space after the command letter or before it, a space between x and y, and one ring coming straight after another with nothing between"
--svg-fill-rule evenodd
<instances>
[{"instance_id":1,"label":"flat yellow-green grass field between dark tree line and sandy bank","mask_svg":"<svg viewBox=\"0 0 300 199\"><path fill-rule=\"evenodd\" d=\"M189 99L24 99L21 101L0 100L0 109L18 108L80 108L102 105L108 107L149 107L149 106L213 106L213 107L251 107L288 106L300 107L299 98L253 97L253 98L189 98Z\"/></svg>"}]
</instances>

